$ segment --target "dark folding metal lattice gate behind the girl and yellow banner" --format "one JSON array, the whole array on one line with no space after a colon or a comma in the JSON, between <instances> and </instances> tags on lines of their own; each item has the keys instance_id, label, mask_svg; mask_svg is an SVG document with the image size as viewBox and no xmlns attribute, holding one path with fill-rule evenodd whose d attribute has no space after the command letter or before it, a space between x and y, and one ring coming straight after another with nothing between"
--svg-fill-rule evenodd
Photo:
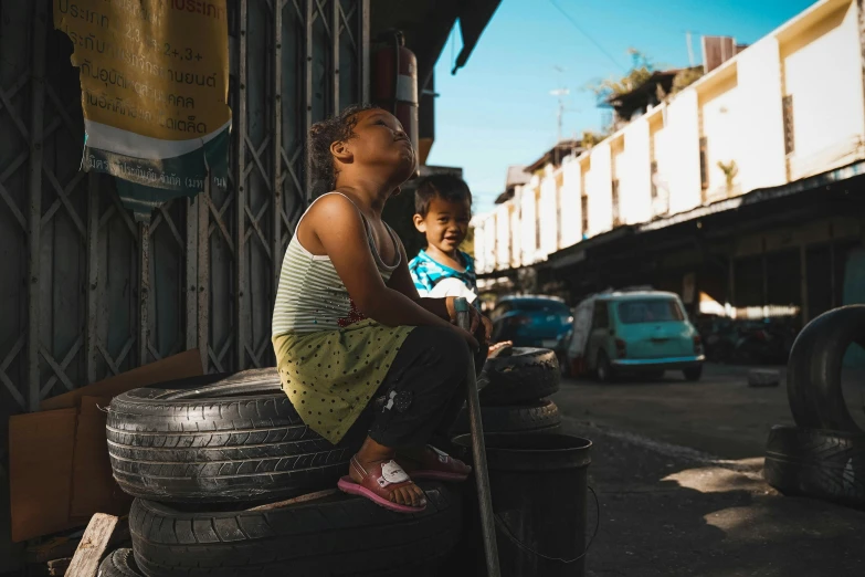
<instances>
[{"instance_id":1,"label":"dark folding metal lattice gate behind the girl and yellow banner","mask_svg":"<svg viewBox=\"0 0 865 577\"><path fill-rule=\"evenodd\" d=\"M283 252L312 193L305 135L369 98L369 0L229 3L229 189L208 182L149 224L122 207L114 178L80 171L78 71L68 42L48 34L51 0L10 6L0 41L12 61L0 69L0 222L19 259L15 307L0 319L14 327L0 338L9 410L183 348L198 347L208 371L273 363Z\"/></svg>"}]
</instances>

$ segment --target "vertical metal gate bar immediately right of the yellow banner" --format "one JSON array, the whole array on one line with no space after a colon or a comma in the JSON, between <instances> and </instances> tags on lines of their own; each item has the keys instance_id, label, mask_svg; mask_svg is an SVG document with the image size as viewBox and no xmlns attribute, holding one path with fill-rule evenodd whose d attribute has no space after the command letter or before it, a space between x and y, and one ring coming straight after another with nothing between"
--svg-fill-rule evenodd
<instances>
[{"instance_id":1,"label":"vertical metal gate bar immediately right of the yellow banner","mask_svg":"<svg viewBox=\"0 0 865 577\"><path fill-rule=\"evenodd\" d=\"M238 39L238 135L234 182L234 356L235 370L246 368L246 9L247 0L240 0L240 38Z\"/></svg>"}]
</instances>

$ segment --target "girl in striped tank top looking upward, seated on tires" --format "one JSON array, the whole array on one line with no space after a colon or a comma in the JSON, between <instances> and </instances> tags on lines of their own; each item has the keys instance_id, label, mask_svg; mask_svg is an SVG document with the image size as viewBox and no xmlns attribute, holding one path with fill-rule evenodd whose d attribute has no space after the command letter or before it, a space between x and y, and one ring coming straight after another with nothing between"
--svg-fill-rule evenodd
<instances>
[{"instance_id":1,"label":"girl in striped tank top looking upward, seated on tires","mask_svg":"<svg viewBox=\"0 0 865 577\"><path fill-rule=\"evenodd\" d=\"M426 443L446 442L470 355L482 352L475 366L483 366L490 324L473 312L470 334L454 324L453 297L421 298L405 249L381 220L416 167L393 115L349 107L312 127L308 150L325 193L302 217L283 260L273 314L282 387L304 422L334 444L383 395L339 489L415 513L426 501L412 479L463 481L471 472Z\"/></svg>"}]
</instances>

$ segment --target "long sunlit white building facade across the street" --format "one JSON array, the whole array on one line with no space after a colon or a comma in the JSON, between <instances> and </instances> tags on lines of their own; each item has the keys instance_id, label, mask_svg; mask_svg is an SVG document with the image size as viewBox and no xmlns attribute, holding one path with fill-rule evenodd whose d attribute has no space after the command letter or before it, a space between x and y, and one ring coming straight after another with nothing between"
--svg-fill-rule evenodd
<instances>
[{"instance_id":1,"label":"long sunlit white building facade across the street","mask_svg":"<svg viewBox=\"0 0 865 577\"><path fill-rule=\"evenodd\" d=\"M529 167L476 219L482 273L865 158L858 12L821 0L590 149ZM493 229L495 232L487 232Z\"/></svg>"}]
</instances>

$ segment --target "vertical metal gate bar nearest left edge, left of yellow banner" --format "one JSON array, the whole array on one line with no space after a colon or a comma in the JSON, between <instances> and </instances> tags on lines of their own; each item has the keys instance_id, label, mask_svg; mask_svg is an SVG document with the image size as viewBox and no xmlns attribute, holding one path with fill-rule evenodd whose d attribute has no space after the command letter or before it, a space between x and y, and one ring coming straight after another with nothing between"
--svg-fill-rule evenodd
<instances>
[{"instance_id":1,"label":"vertical metal gate bar nearest left edge, left of yellow banner","mask_svg":"<svg viewBox=\"0 0 865 577\"><path fill-rule=\"evenodd\" d=\"M45 35L48 2L33 2L33 64L30 81L30 213L28 214L28 403L39 410L39 283L40 241L42 240L42 138L45 102Z\"/></svg>"}]
</instances>

